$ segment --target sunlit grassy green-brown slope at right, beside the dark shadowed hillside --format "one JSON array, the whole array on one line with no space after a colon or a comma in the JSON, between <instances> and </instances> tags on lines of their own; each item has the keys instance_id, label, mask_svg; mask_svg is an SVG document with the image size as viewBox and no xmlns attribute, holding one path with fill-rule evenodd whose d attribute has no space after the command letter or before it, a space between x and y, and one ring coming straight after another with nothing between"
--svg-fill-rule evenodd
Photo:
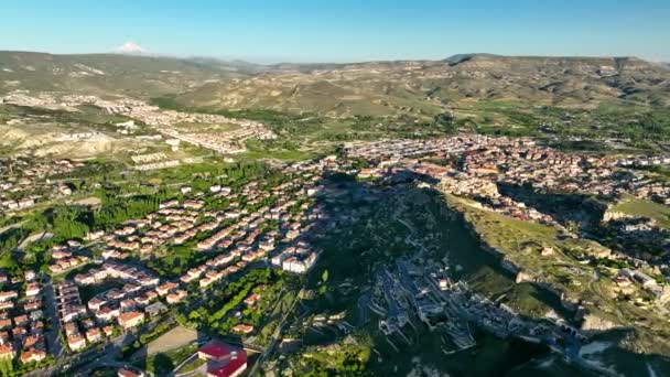
<instances>
[{"instance_id":1,"label":"sunlit grassy green-brown slope at right, beside the dark shadowed hillside","mask_svg":"<svg viewBox=\"0 0 670 377\"><path fill-rule=\"evenodd\" d=\"M472 202L447 195L447 201L465 215L483 240L495 247L507 259L525 271L538 273L542 281L561 290L566 297L579 299L582 305L592 314L635 328L631 337L619 343L625 349L636 353L667 354L668 338L667 320L661 312L653 308L642 309L627 300L615 299L614 284L609 278L599 274L595 279L593 267L576 262L560 250L581 250L598 247L584 239L555 238L555 229L538 224L520 222L493 212L478 209ZM527 243L538 243L554 247L549 257L541 257L522 247ZM571 270L566 270L570 268ZM580 270L583 274L575 274ZM645 319L640 322L640 319Z\"/></svg>"}]
</instances>

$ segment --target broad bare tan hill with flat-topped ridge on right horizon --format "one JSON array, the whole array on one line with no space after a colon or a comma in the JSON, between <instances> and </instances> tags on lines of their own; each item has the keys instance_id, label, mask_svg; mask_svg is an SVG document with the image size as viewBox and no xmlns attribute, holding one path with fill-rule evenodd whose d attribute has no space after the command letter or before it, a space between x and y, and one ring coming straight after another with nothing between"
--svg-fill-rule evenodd
<instances>
[{"instance_id":1,"label":"broad bare tan hill with flat-topped ridge on right horizon","mask_svg":"<svg viewBox=\"0 0 670 377\"><path fill-rule=\"evenodd\" d=\"M444 61L278 65L182 94L187 106L339 115L440 111L460 101L511 100L595 108L602 101L670 104L670 69L635 57L455 55Z\"/></svg>"}]
</instances>

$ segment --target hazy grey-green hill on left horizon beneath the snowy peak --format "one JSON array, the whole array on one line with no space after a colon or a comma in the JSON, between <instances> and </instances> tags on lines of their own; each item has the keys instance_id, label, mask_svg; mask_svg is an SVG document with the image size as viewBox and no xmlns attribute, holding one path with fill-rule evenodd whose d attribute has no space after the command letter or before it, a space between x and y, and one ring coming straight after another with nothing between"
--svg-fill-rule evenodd
<instances>
[{"instance_id":1,"label":"hazy grey-green hill on left horizon beneath the snowy peak","mask_svg":"<svg viewBox=\"0 0 670 377\"><path fill-rule=\"evenodd\" d=\"M240 64L198 58L0 52L0 94L20 89L148 97L247 75Z\"/></svg>"}]
</instances>

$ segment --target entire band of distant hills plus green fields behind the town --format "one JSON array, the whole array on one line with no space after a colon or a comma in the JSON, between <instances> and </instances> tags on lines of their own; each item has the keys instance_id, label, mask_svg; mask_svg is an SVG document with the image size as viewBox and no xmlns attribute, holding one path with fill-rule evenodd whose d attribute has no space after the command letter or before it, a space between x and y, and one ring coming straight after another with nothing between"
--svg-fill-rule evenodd
<instances>
[{"instance_id":1,"label":"entire band of distant hills plus green fields behind the town","mask_svg":"<svg viewBox=\"0 0 670 377\"><path fill-rule=\"evenodd\" d=\"M636 57L464 54L442 61L258 65L0 52L0 94L24 90L237 111L311 140L461 131L616 138L657 150L670 134L670 67Z\"/></svg>"}]
</instances>

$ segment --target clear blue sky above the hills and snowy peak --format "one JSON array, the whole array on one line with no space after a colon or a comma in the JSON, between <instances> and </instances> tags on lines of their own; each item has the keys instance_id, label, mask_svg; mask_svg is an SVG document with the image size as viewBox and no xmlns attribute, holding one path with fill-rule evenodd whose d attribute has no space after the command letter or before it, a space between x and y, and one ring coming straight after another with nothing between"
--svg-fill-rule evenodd
<instances>
[{"instance_id":1,"label":"clear blue sky above the hills and snowy peak","mask_svg":"<svg viewBox=\"0 0 670 377\"><path fill-rule=\"evenodd\" d=\"M670 62L670 0L21 0L0 50L154 53L253 62L636 55Z\"/></svg>"}]
</instances>

